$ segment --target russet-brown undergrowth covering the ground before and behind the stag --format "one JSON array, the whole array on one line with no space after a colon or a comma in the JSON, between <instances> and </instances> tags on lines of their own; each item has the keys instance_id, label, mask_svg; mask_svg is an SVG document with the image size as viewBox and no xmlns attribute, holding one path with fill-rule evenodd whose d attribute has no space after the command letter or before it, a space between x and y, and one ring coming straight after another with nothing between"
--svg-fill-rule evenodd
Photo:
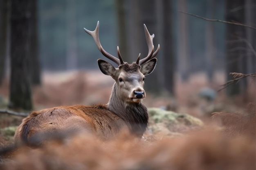
<instances>
[{"instance_id":1,"label":"russet-brown undergrowth covering the ground before and behind the stag","mask_svg":"<svg viewBox=\"0 0 256 170\"><path fill-rule=\"evenodd\" d=\"M35 109L56 105L107 103L113 81L98 72L74 72L45 75L44 85L34 88ZM224 84L222 74L209 84L197 74L186 84L176 82L176 98L147 94L147 107L160 107L200 118L204 126L182 135L164 136L145 133L134 139L121 133L117 139L100 141L92 136L59 138L41 148L19 147L0 160L2 170L255 170L256 105L255 84L247 96L227 98L217 93L213 101L198 96L202 88L218 90ZM0 94L8 98L7 81ZM4 99L6 100L6 99ZM1 114L1 128L20 124L22 118ZM0 136L0 154L12 139ZM5 149L5 150L4 150Z\"/></svg>"}]
</instances>

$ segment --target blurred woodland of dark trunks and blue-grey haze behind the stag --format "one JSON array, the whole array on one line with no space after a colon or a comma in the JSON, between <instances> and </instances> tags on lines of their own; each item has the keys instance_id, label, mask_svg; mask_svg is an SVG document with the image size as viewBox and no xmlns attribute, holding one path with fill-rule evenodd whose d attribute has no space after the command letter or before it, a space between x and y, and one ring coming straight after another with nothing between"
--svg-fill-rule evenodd
<instances>
[{"instance_id":1,"label":"blurred woodland of dark trunks and blue-grey haze behind the stag","mask_svg":"<svg viewBox=\"0 0 256 170\"><path fill-rule=\"evenodd\" d=\"M155 47L160 44L158 63L145 87L155 96L179 98L181 86L177 82L190 87L189 81L198 74L206 82L203 86L218 91L220 85L232 79L230 72L249 74L256 70L254 0L0 3L0 85L9 108L31 110L35 88L45 86L46 74L98 72L96 60L104 57L92 37L83 31L84 27L94 30L98 20L103 48L116 55L118 45L128 62L135 61L139 53L147 54L143 24L155 34ZM247 26L207 21L180 11ZM225 89L227 96L247 96L248 89L254 89L252 82L255 83L252 78L243 78L229 85ZM187 96L186 89L181 88L182 96Z\"/></svg>"}]
</instances>

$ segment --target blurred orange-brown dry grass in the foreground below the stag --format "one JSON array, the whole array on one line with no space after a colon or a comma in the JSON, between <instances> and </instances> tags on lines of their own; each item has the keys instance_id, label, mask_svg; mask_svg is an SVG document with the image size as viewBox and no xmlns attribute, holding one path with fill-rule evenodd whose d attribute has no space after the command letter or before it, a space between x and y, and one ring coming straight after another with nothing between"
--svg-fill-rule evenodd
<instances>
[{"instance_id":1,"label":"blurred orange-brown dry grass in the foreground below the stag","mask_svg":"<svg viewBox=\"0 0 256 170\"><path fill-rule=\"evenodd\" d=\"M198 131L154 142L121 135L101 142L78 135L43 148L24 148L2 170L255 170L255 139Z\"/></svg>"}]
</instances>

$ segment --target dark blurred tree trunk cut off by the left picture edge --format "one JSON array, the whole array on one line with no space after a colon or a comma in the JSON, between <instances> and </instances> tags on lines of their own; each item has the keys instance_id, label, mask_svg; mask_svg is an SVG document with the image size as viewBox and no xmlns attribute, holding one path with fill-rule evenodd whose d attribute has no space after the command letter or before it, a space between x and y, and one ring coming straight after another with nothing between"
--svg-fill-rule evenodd
<instances>
[{"instance_id":1,"label":"dark blurred tree trunk cut off by the left picture edge","mask_svg":"<svg viewBox=\"0 0 256 170\"><path fill-rule=\"evenodd\" d=\"M5 76L5 61L7 49L7 26L8 26L8 0L0 0L0 85Z\"/></svg>"}]
</instances>

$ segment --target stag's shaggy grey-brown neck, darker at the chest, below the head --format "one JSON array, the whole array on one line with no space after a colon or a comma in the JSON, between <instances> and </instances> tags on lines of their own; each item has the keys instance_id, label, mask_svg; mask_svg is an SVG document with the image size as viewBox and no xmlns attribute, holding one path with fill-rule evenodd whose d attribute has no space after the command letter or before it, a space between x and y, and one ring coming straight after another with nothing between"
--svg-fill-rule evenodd
<instances>
[{"instance_id":1,"label":"stag's shaggy grey-brown neck, darker at the chest, below the head","mask_svg":"<svg viewBox=\"0 0 256 170\"><path fill-rule=\"evenodd\" d=\"M132 134L141 137L148 126L148 110L144 104L125 103L117 96L117 85L113 86L108 108L122 118Z\"/></svg>"}]
</instances>

